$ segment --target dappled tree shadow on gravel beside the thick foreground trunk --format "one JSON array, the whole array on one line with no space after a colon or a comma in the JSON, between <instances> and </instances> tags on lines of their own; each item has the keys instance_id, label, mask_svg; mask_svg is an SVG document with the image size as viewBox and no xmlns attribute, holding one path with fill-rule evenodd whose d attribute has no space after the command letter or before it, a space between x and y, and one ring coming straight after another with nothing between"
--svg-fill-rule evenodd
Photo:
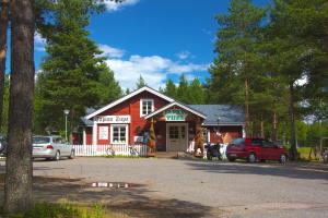
<instances>
[{"instance_id":1,"label":"dappled tree shadow on gravel beside the thick foreground trunk","mask_svg":"<svg viewBox=\"0 0 328 218\"><path fill-rule=\"evenodd\" d=\"M3 174L2 174L3 175ZM79 204L102 204L112 211L130 217L199 218L220 217L221 211L198 203L179 199L152 198L143 184L131 187L92 187L82 179L34 177L34 196L37 202L68 199ZM3 180L0 180L0 198L3 198Z\"/></svg>"}]
</instances>

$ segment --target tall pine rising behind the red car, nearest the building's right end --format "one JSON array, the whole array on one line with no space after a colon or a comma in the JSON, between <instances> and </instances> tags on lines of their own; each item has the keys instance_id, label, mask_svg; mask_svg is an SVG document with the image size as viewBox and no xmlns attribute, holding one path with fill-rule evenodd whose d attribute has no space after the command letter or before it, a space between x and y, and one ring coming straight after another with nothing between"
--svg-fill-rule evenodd
<instances>
[{"instance_id":1,"label":"tall pine rising behind the red car, nearest the building's right end","mask_svg":"<svg viewBox=\"0 0 328 218\"><path fill-rule=\"evenodd\" d=\"M258 72L257 43L263 16L265 10L253 5L251 0L232 0L229 14L216 16L219 57L210 68L212 97L244 105L246 135L250 134L251 86Z\"/></svg>"}]
</instances>

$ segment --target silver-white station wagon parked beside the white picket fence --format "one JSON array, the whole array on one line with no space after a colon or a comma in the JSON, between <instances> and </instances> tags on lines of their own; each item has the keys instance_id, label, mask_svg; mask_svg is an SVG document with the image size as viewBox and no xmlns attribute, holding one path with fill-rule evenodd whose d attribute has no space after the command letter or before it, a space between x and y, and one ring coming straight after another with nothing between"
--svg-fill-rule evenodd
<instances>
[{"instance_id":1,"label":"silver-white station wagon parked beside the white picket fence","mask_svg":"<svg viewBox=\"0 0 328 218\"><path fill-rule=\"evenodd\" d=\"M33 158L59 160L61 157L73 159L74 156L73 146L60 136L33 136Z\"/></svg>"}]
</instances>

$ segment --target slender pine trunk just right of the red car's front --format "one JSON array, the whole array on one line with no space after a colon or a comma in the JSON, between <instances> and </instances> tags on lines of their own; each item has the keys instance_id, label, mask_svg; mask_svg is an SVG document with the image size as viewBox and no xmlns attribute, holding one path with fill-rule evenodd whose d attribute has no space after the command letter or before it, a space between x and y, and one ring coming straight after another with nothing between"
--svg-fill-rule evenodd
<instances>
[{"instance_id":1,"label":"slender pine trunk just right of the red car's front","mask_svg":"<svg viewBox=\"0 0 328 218\"><path fill-rule=\"evenodd\" d=\"M291 160L297 159L297 149L296 149L296 128L295 128L295 109L294 109L294 87L293 82L290 83L290 107L289 107L289 117L291 125Z\"/></svg>"}]
</instances>

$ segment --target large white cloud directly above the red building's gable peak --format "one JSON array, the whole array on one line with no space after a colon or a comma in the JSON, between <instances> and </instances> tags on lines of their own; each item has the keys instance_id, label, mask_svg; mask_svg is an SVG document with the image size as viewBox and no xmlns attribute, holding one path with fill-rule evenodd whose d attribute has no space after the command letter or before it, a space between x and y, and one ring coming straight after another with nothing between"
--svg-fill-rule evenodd
<instances>
[{"instance_id":1,"label":"large white cloud directly above the red building's gable peak","mask_svg":"<svg viewBox=\"0 0 328 218\"><path fill-rule=\"evenodd\" d=\"M128 60L109 59L108 66L114 71L116 80L122 88L136 88L141 75L145 83L155 89L164 87L167 74L192 74L195 71L206 71L209 64L179 64L160 56L131 56ZM190 75L191 76L191 75Z\"/></svg>"}]
</instances>

